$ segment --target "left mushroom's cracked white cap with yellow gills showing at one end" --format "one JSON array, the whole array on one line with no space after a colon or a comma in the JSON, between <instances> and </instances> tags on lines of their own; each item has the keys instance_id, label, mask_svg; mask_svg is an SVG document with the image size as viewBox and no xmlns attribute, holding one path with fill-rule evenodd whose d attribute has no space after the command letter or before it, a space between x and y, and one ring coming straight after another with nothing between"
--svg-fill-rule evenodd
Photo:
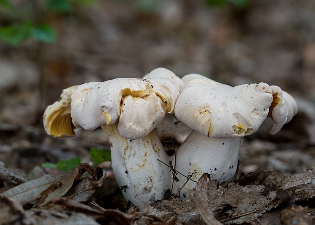
<instances>
[{"instance_id":1,"label":"left mushroom's cracked white cap with yellow gills showing at one end","mask_svg":"<svg viewBox=\"0 0 315 225\"><path fill-rule=\"evenodd\" d=\"M182 86L183 81L164 68L155 69L142 79L116 78L77 85L71 89L72 92L61 95L62 104L56 102L47 107L49 110L44 116L46 131L55 124L56 132L48 134L73 136L75 127L93 130L118 121L121 136L142 138L159 125L167 113L173 113ZM68 119L59 119L64 114ZM58 128L56 124L64 128Z\"/></svg>"}]
</instances>

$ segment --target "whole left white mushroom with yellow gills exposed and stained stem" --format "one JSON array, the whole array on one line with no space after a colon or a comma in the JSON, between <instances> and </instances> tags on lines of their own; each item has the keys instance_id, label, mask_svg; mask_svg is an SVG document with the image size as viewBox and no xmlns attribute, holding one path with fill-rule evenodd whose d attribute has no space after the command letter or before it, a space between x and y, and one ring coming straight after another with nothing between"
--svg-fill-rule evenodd
<instances>
[{"instance_id":1,"label":"whole left white mushroom with yellow gills exposed and stained stem","mask_svg":"<svg viewBox=\"0 0 315 225\"><path fill-rule=\"evenodd\" d=\"M74 128L102 126L111 145L112 167L127 201L142 208L161 200L170 188L169 162L155 127L173 113L184 83L158 68L142 79L117 78L65 89L48 106L44 126L55 137L74 136Z\"/></svg>"}]
</instances>

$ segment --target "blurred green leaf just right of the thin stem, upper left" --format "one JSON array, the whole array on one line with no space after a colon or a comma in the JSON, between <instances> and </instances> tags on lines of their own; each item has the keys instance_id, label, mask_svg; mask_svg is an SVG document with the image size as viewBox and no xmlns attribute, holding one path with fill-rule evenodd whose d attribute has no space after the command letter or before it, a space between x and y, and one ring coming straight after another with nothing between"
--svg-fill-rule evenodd
<instances>
[{"instance_id":1,"label":"blurred green leaf just right of the thin stem, upper left","mask_svg":"<svg viewBox=\"0 0 315 225\"><path fill-rule=\"evenodd\" d=\"M53 27L42 24L38 27L31 28L31 35L38 41L54 44L56 42L56 34Z\"/></svg>"}]
</instances>

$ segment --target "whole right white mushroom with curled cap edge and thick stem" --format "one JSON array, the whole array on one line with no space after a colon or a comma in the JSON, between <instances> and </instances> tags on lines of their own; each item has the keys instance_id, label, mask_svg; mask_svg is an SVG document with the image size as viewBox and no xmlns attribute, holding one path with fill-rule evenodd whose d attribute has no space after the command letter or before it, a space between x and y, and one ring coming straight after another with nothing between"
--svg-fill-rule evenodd
<instances>
[{"instance_id":1,"label":"whole right white mushroom with curled cap edge and thick stem","mask_svg":"<svg viewBox=\"0 0 315 225\"><path fill-rule=\"evenodd\" d=\"M195 181L208 173L222 185L229 183L237 170L241 137L255 133L267 116L274 121L269 133L275 134L297 113L294 99L277 86L231 87L198 74L182 80L175 116L194 131L176 152L176 170ZM187 196L196 186L192 180L181 178L173 192Z\"/></svg>"}]
</instances>

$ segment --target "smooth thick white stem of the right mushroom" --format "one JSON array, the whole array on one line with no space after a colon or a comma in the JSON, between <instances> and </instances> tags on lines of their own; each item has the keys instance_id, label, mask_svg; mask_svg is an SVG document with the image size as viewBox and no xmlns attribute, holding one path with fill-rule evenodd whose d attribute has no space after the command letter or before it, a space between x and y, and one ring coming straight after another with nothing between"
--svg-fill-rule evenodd
<instances>
[{"instance_id":1,"label":"smooth thick white stem of the right mushroom","mask_svg":"<svg viewBox=\"0 0 315 225\"><path fill-rule=\"evenodd\" d=\"M218 180L221 185L228 184L237 170L240 144L241 137L209 138L193 131L176 152L175 170L195 181L203 173L208 173L211 180ZM174 183L174 193L177 193L187 180L180 175L177 178L179 181ZM192 180L180 190L181 198L187 197L196 187L196 182Z\"/></svg>"}]
</instances>

